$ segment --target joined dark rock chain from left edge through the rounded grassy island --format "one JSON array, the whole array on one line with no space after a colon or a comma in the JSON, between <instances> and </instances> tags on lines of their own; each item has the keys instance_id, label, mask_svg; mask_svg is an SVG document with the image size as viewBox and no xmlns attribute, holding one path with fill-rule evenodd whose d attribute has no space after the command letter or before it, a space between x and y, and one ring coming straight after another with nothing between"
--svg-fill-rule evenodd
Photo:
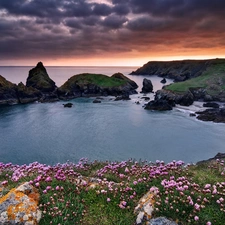
<instances>
[{"instance_id":1,"label":"joined dark rock chain from left edge through the rounded grassy island","mask_svg":"<svg viewBox=\"0 0 225 225\"><path fill-rule=\"evenodd\" d=\"M39 62L29 71L26 85L22 82L13 84L0 75L0 105L54 102L77 97L129 96L137 93L137 87L134 81L121 73L111 77L102 74L74 75L57 87L43 63Z\"/></svg>"}]
</instances>

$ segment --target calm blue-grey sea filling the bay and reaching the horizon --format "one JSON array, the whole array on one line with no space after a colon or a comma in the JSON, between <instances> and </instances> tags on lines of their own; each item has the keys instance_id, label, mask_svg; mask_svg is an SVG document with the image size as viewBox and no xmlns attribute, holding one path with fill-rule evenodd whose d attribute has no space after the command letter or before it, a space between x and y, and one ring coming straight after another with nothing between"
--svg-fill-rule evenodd
<instances>
[{"instance_id":1,"label":"calm blue-grey sea filling the bay and reaching the horizon","mask_svg":"<svg viewBox=\"0 0 225 225\"><path fill-rule=\"evenodd\" d=\"M0 74L18 84L26 83L32 67L0 67ZM190 107L177 106L172 111L157 112L143 108L140 93L143 79L150 79L154 91L161 89L162 78L129 75L136 67L46 67L51 79L61 86L71 76L97 73L111 76L121 72L138 85L138 94L130 101L102 98L30 103L0 107L0 162L54 165L67 161L135 161L165 163L182 160L196 163L225 152L225 124L203 122L190 113L202 110L202 102ZM167 80L167 84L172 80ZM154 93L147 94L152 100ZM140 104L136 104L139 101Z\"/></svg>"}]
</instances>

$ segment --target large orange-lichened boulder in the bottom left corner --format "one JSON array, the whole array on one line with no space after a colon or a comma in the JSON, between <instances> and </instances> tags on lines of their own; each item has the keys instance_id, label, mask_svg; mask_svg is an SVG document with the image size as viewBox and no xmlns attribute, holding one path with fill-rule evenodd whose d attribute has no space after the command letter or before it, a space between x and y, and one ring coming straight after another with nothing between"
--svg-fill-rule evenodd
<instances>
[{"instance_id":1,"label":"large orange-lichened boulder in the bottom left corner","mask_svg":"<svg viewBox=\"0 0 225 225\"><path fill-rule=\"evenodd\" d=\"M28 182L13 188L0 198L0 224L37 225L41 219L39 197Z\"/></svg>"}]
</instances>

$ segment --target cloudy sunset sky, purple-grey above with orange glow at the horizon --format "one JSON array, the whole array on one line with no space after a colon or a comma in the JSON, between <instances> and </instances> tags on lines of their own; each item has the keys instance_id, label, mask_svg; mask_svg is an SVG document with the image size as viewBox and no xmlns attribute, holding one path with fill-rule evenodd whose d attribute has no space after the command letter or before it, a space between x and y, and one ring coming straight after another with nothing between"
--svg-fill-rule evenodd
<instances>
[{"instance_id":1,"label":"cloudy sunset sky, purple-grey above with orange glow at the horizon","mask_svg":"<svg viewBox=\"0 0 225 225\"><path fill-rule=\"evenodd\" d=\"M0 66L225 58L225 0L0 0Z\"/></svg>"}]
</instances>

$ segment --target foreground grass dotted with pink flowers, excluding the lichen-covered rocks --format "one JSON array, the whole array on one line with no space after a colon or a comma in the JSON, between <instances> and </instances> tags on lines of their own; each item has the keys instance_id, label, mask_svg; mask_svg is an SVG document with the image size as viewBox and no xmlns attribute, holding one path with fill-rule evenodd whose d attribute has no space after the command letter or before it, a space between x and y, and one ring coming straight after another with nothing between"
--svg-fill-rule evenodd
<instances>
[{"instance_id":1,"label":"foreground grass dotted with pink flowers, excluding the lichen-covered rocks","mask_svg":"<svg viewBox=\"0 0 225 225\"><path fill-rule=\"evenodd\" d=\"M0 163L3 194L24 181L39 189L40 225L134 224L134 208L151 187L158 190L154 217L182 225L224 225L224 173L223 160L201 165L86 159L55 166Z\"/></svg>"}]
</instances>

